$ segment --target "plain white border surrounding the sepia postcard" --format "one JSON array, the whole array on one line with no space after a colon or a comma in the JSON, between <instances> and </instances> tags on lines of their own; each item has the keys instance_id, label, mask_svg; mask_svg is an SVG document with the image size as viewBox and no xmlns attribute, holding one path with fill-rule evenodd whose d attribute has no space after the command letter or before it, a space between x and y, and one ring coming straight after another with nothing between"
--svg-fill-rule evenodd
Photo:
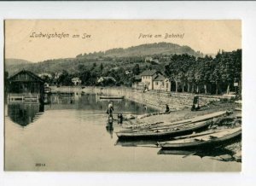
<instances>
[{"instance_id":1,"label":"plain white border surrounding the sepia postcard","mask_svg":"<svg viewBox=\"0 0 256 186\"><path fill-rule=\"evenodd\" d=\"M243 141L241 173L4 172L3 114L0 126L0 185L253 185L256 183L256 3L255 2L1 2L0 59L4 19L241 19L243 49ZM221 33L216 33L221 34ZM3 63L1 111L3 113ZM148 162L149 163L149 162Z\"/></svg>"}]
</instances>

